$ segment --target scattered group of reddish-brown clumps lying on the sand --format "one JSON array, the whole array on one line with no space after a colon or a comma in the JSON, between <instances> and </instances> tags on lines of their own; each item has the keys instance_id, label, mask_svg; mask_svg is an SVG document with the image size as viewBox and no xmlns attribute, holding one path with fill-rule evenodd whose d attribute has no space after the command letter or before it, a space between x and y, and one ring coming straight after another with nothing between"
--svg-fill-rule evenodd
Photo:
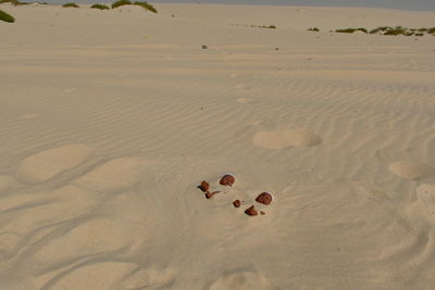
<instances>
[{"instance_id":1,"label":"scattered group of reddish-brown clumps lying on the sand","mask_svg":"<svg viewBox=\"0 0 435 290\"><path fill-rule=\"evenodd\" d=\"M228 186L228 187L233 187L234 182L236 181L236 178L234 178L233 175L226 174L224 175L221 180L219 181L219 184L221 186ZM204 192L206 199L211 199L214 194L221 193L221 191L212 191L210 192L210 184L207 182L206 180L202 181L198 188ZM269 192L262 192L260 193L257 198L256 201L258 203L264 204L264 205L269 205L272 203L272 194ZM241 206L241 201L240 200L235 200L233 201L233 205L234 207L240 207ZM258 215L258 211L256 210L254 205L251 205L250 207L246 209L245 213L249 216L256 216ZM261 215L265 215L265 213L263 211L260 211Z\"/></svg>"}]
</instances>

